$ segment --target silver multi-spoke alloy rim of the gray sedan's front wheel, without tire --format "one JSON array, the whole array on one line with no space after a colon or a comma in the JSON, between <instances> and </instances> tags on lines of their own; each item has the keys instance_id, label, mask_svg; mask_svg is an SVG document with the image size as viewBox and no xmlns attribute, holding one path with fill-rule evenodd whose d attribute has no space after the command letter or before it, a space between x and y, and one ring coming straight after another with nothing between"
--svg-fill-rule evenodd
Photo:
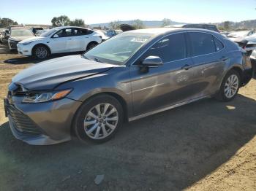
<instances>
[{"instance_id":1,"label":"silver multi-spoke alloy rim of the gray sedan's front wheel, without tire","mask_svg":"<svg viewBox=\"0 0 256 191\"><path fill-rule=\"evenodd\" d=\"M102 103L89 110L84 119L84 130L91 139L105 139L110 136L118 124L118 112L115 106Z\"/></svg>"}]
</instances>

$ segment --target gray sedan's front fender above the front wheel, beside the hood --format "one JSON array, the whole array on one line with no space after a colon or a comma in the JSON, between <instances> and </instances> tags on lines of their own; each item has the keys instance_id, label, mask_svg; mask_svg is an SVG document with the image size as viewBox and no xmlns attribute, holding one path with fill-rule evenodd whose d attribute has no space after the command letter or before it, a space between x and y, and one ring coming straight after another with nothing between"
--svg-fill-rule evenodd
<instances>
[{"instance_id":1,"label":"gray sedan's front fender above the front wheel, beside the hood","mask_svg":"<svg viewBox=\"0 0 256 191\"><path fill-rule=\"evenodd\" d=\"M57 89L73 88L67 97L81 102L99 93L112 93L124 100L127 104L128 114L132 114L132 95L129 81L128 67L117 66L102 74L64 83L59 85Z\"/></svg>"}]
</instances>

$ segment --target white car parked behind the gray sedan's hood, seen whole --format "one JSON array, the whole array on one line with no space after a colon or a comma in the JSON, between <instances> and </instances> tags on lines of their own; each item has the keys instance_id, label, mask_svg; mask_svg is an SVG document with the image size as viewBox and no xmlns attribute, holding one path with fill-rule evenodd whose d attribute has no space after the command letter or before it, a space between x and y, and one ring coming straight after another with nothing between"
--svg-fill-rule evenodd
<instances>
[{"instance_id":1,"label":"white car parked behind the gray sedan's hood, seen whole","mask_svg":"<svg viewBox=\"0 0 256 191\"><path fill-rule=\"evenodd\" d=\"M55 53L86 51L101 42L101 36L90 29L62 26L52 28L41 36L23 40L17 47L21 55L45 59Z\"/></svg>"}]
</instances>

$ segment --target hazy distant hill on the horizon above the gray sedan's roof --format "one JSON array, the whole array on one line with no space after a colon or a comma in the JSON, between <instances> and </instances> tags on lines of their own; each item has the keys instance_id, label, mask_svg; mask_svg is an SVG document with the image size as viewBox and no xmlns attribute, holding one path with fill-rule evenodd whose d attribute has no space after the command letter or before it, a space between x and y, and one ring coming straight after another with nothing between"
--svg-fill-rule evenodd
<instances>
[{"instance_id":1,"label":"hazy distant hill on the horizon above the gray sedan's roof","mask_svg":"<svg viewBox=\"0 0 256 191\"><path fill-rule=\"evenodd\" d=\"M119 21L120 24L133 24L133 20L124 20L124 21ZM178 24L184 24L184 23L179 23L175 21L171 21L171 25L178 25ZM162 26L162 20L143 20L143 25L146 26L146 28L157 28ZM109 28L109 23L97 23L97 24L91 24L89 25L91 28L101 26Z\"/></svg>"}]
</instances>

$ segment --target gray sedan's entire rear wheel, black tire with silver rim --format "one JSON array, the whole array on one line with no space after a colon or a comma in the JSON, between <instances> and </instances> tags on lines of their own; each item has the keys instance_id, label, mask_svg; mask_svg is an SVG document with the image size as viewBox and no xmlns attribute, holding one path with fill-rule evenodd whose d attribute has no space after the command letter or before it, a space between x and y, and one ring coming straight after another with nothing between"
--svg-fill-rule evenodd
<instances>
[{"instance_id":1,"label":"gray sedan's entire rear wheel, black tire with silver rim","mask_svg":"<svg viewBox=\"0 0 256 191\"><path fill-rule=\"evenodd\" d=\"M236 98L240 86L240 74L236 70L230 70L222 80L222 85L219 89L219 93L216 95L216 98L219 101L232 101L234 98Z\"/></svg>"}]
</instances>

